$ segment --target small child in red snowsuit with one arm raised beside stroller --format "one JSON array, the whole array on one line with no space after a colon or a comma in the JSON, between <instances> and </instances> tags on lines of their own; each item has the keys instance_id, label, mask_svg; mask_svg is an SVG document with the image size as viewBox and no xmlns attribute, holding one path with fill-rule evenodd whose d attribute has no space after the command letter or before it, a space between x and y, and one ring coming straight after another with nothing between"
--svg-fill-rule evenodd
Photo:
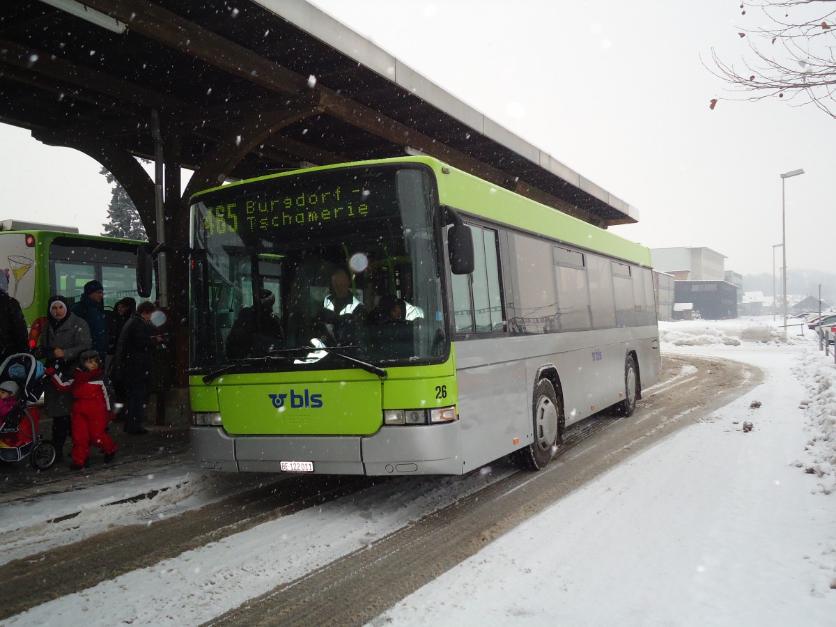
<instances>
[{"instance_id":1,"label":"small child in red snowsuit with one arm raised beside stroller","mask_svg":"<svg viewBox=\"0 0 836 627\"><path fill-rule=\"evenodd\" d=\"M62 380L60 374L51 368L46 370L48 375L52 375L53 385L59 390L71 390L75 399L70 413L73 435L70 470L88 466L91 443L104 453L104 463L113 461L116 454L116 443L105 432L113 414L99 353L93 349L82 351L79 364L69 381Z\"/></svg>"}]
</instances>

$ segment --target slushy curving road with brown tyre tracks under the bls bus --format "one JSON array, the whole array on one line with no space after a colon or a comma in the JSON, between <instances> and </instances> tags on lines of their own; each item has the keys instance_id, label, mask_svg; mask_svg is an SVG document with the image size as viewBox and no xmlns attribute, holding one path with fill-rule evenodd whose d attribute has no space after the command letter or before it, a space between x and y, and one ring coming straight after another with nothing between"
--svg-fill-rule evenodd
<instances>
[{"instance_id":1,"label":"slushy curving road with brown tyre tracks under the bls bus","mask_svg":"<svg viewBox=\"0 0 836 627\"><path fill-rule=\"evenodd\" d=\"M516 472L499 461L466 477L301 477L278 485L259 478L264 485L239 483L227 495L203 489L217 476L181 478L165 507L125 502L104 517L93 507L32 525L29 534L9 529L0 540L18 559L7 564L0 594L14 603L3 605L0 619L23 612L14 624L59 617L64 624L248 624L265 616L362 624L757 382L757 370L742 364L665 362L665 379L646 391L632 418L596 416L573 426L545 472ZM141 526L139 512L147 514ZM53 548L43 551L44 542ZM20 589L32 594L14 594Z\"/></svg>"}]
</instances>

